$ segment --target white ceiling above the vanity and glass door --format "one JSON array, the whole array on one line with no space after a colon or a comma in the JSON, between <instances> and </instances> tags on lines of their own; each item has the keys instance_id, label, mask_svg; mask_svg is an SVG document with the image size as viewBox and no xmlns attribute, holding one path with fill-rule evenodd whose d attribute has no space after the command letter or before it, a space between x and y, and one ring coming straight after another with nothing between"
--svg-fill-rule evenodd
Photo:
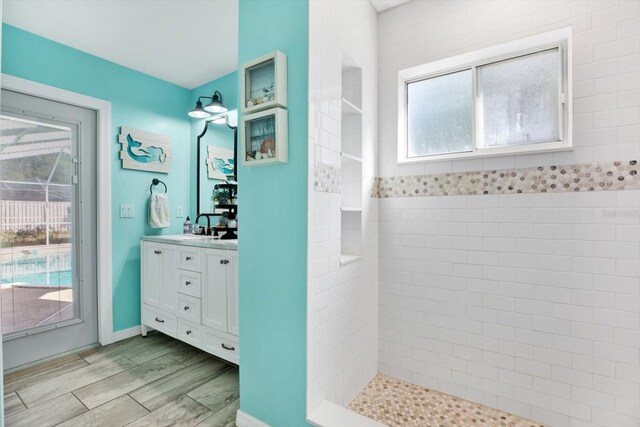
<instances>
[{"instance_id":1,"label":"white ceiling above the vanity and glass door","mask_svg":"<svg viewBox=\"0 0 640 427\"><path fill-rule=\"evenodd\" d=\"M193 89L238 68L238 0L4 0L3 21Z\"/></svg>"}]
</instances>

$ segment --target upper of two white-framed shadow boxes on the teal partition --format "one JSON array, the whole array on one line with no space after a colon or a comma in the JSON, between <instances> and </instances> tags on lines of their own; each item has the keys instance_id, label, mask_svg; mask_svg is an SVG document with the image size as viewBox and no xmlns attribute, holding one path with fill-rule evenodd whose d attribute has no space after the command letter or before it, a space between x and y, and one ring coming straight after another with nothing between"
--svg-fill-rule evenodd
<instances>
[{"instance_id":1,"label":"upper of two white-framed shadow boxes on the teal partition","mask_svg":"<svg viewBox=\"0 0 640 427\"><path fill-rule=\"evenodd\" d=\"M287 107L287 56L276 51L240 68L243 113Z\"/></svg>"}]
</instances>

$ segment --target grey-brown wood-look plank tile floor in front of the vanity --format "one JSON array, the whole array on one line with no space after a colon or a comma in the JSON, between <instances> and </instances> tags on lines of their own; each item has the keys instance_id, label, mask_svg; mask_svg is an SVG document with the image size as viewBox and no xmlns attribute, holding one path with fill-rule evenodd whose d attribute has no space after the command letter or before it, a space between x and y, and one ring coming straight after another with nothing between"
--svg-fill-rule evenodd
<instances>
[{"instance_id":1,"label":"grey-brown wood-look plank tile floor in front of the vanity","mask_svg":"<svg viewBox=\"0 0 640 427\"><path fill-rule=\"evenodd\" d=\"M6 374L11 426L235 427L238 367L160 333Z\"/></svg>"}]
</instances>

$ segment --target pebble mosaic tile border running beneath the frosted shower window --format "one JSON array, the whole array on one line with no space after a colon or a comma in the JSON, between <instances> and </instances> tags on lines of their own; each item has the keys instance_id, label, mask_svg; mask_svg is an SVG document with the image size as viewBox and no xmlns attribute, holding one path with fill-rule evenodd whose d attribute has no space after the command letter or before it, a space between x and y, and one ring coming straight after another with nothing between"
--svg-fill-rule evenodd
<instances>
[{"instance_id":1,"label":"pebble mosaic tile border running beneath the frosted shower window","mask_svg":"<svg viewBox=\"0 0 640 427\"><path fill-rule=\"evenodd\" d=\"M371 196L427 197L640 189L637 160L377 178Z\"/></svg>"}]
</instances>

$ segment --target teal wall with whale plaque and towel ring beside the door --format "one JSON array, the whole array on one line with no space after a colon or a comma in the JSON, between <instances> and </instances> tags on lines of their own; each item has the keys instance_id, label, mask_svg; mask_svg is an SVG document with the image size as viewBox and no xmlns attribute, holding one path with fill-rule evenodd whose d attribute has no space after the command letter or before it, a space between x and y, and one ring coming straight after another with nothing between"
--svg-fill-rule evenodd
<instances>
[{"instance_id":1,"label":"teal wall with whale plaque and towel ring beside the door","mask_svg":"<svg viewBox=\"0 0 640 427\"><path fill-rule=\"evenodd\" d=\"M190 211L191 128L186 112L191 93L182 87L88 55L68 46L3 24L2 72L111 102L113 217L113 328L140 324L140 236L182 232L184 218L176 206ZM173 161L168 175L122 169L118 157L120 126L171 137ZM186 171L186 172L185 172ZM146 202L151 179L169 188L171 227L149 228ZM119 218L121 203L134 205L135 217Z\"/></svg>"}]
</instances>

